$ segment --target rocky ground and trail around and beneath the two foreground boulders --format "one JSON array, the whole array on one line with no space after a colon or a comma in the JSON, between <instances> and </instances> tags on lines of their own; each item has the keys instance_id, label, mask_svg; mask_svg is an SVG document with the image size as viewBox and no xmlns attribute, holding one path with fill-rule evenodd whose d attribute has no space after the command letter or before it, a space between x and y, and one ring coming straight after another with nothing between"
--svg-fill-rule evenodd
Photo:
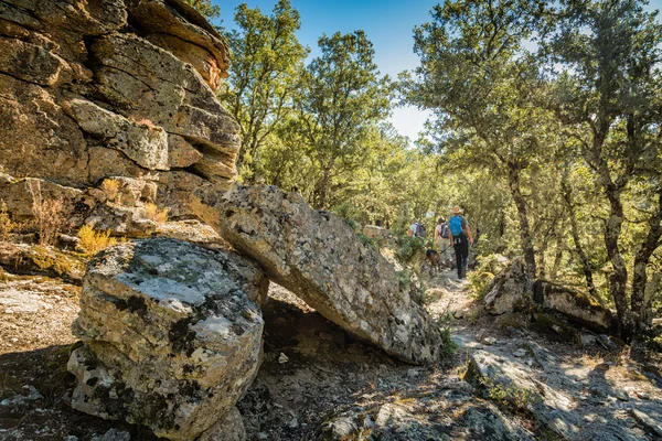
<instances>
[{"instance_id":1,"label":"rocky ground and trail around and beneath the two foreground boulders","mask_svg":"<svg viewBox=\"0 0 662 441\"><path fill-rule=\"evenodd\" d=\"M0 439L156 440L146 429L71 409L75 380L66 362L76 338L68 326L79 289L39 276L3 277ZM650 354L608 349L586 331L583 344L560 342L559 334L532 331L525 318L485 315L451 272L428 281L426 308L458 347L441 365L413 366L273 283L263 305L264 362L237 402L246 439L662 437L662 377Z\"/></svg>"}]
</instances>

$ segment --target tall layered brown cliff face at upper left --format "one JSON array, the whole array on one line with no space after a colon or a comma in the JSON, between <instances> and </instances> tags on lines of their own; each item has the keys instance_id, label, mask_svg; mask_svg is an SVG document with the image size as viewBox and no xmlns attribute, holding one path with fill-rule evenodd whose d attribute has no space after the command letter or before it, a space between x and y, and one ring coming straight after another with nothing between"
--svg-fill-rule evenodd
<instances>
[{"instance_id":1,"label":"tall layered brown cliff face at upper left","mask_svg":"<svg viewBox=\"0 0 662 441\"><path fill-rule=\"evenodd\" d=\"M190 189L236 175L238 126L214 94L228 53L182 0L1 1L0 197L29 217L36 182L75 224L122 234L153 229L147 202L186 215ZM118 178L148 190L109 201Z\"/></svg>"}]
</instances>

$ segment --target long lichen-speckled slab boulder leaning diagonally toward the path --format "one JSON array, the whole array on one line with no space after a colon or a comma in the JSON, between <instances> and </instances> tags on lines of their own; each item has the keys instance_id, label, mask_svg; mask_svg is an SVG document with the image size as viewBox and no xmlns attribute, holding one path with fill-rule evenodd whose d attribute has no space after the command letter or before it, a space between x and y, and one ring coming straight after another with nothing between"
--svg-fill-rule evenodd
<instances>
[{"instance_id":1,"label":"long lichen-speckled slab boulder leaning diagonally toward the path","mask_svg":"<svg viewBox=\"0 0 662 441\"><path fill-rule=\"evenodd\" d=\"M194 201L223 238L330 321L403 361L439 359L438 326L380 251L340 217L275 186L206 185Z\"/></svg>"}]
</instances>

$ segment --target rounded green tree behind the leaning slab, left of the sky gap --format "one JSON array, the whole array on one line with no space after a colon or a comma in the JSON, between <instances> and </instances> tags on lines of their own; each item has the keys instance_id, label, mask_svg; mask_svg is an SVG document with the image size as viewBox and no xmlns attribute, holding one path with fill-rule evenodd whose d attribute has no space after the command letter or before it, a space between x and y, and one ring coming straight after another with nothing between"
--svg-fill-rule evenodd
<instances>
[{"instance_id":1,"label":"rounded green tree behind the leaning slab, left of the sky gap","mask_svg":"<svg viewBox=\"0 0 662 441\"><path fill-rule=\"evenodd\" d=\"M329 206L333 180L361 163L363 141L389 111L391 80L381 77L363 31L319 39L320 56L299 83L297 130L319 169L312 203Z\"/></svg>"}]
</instances>

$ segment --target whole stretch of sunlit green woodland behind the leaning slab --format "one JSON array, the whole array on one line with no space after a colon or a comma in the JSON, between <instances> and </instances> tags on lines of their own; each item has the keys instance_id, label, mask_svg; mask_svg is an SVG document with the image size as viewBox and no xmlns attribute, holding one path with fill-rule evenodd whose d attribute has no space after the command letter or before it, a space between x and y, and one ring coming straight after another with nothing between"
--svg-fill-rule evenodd
<instances>
[{"instance_id":1,"label":"whole stretch of sunlit green woodland behind the leaning slab","mask_svg":"<svg viewBox=\"0 0 662 441\"><path fill-rule=\"evenodd\" d=\"M289 2L270 17L242 6L235 20L222 98L242 126L241 179L397 236L412 217L431 236L457 204L481 232L478 295L498 272L488 256L524 255L533 276L558 283L580 287L590 273L608 304L620 275L620 310L630 299L641 310L632 294L662 267L662 26L641 2L435 7L414 31L420 67L398 84L433 114L417 148L384 121L394 85L363 32L322 35L305 66ZM398 238L397 258L412 266L425 245Z\"/></svg>"}]
</instances>

